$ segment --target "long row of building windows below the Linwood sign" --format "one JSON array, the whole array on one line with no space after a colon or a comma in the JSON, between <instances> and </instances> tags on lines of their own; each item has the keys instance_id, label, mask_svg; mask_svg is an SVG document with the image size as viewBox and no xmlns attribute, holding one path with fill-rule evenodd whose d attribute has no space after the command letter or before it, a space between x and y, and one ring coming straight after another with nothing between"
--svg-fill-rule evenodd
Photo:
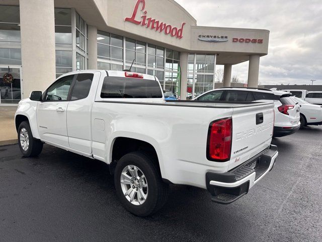
<instances>
[{"instance_id":1,"label":"long row of building windows below the Linwood sign","mask_svg":"<svg viewBox=\"0 0 322 242\"><path fill-rule=\"evenodd\" d=\"M180 94L178 51L98 30L97 53L98 69L121 71L134 60L132 72L156 76L163 89Z\"/></svg>"}]
</instances>

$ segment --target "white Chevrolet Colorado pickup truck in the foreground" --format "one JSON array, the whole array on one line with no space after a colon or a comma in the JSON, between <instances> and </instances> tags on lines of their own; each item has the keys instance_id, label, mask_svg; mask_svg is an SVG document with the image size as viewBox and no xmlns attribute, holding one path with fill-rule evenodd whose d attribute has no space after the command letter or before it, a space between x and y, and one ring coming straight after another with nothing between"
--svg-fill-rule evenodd
<instances>
[{"instance_id":1,"label":"white Chevrolet Colorado pickup truck in the foreground","mask_svg":"<svg viewBox=\"0 0 322 242\"><path fill-rule=\"evenodd\" d=\"M161 208L169 184L207 189L228 204L248 193L275 163L274 104L165 101L156 77L78 71L19 102L22 154L43 143L101 160L122 205L138 216Z\"/></svg>"}]
</instances>

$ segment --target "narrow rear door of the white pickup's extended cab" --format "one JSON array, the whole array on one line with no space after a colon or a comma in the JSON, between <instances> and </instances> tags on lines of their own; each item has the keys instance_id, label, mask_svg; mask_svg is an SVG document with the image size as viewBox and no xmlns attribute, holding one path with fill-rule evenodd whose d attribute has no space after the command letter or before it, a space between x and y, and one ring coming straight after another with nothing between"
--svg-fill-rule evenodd
<instances>
[{"instance_id":1,"label":"narrow rear door of the white pickup's extended cab","mask_svg":"<svg viewBox=\"0 0 322 242\"><path fill-rule=\"evenodd\" d=\"M92 153L92 106L100 72L79 73L71 87L67 107L69 147L87 154Z\"/></svg>"}]
</instances>

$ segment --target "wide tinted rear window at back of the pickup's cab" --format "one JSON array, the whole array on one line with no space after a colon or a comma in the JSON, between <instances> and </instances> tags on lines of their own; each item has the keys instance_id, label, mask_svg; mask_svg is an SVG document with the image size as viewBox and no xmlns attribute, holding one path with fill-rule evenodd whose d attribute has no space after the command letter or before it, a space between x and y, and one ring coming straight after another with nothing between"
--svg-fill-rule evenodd
<instances>
[{"instance_id":1,"label":"wide tinted rear window at back of the pickup's cab","mask_svg":"<svg viewBox=\"0 0 322 242\"><path fill-rule=\"evenodd\" d=\"M101 98L162 98L162 90L155 80L105 77Z\"/></svg>"}]
</instances>

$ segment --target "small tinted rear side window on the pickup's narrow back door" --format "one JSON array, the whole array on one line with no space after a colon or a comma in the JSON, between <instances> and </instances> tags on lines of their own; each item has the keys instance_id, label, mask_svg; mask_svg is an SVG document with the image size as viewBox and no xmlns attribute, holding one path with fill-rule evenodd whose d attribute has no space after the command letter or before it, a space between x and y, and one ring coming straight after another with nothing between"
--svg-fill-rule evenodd
<instances>
[{"instance_id":1,"label":"small tinted rear side window on the pickup's narrow back door","mask_svg":"<svg viewBox=\"0 0 322 242\"><path fill-rule=\"evenodd\" d=\"M71 93L71 100L86 98L92 86L94 74L81 73L77 75L74 88Z\"/></svg>"}]
</instances>

